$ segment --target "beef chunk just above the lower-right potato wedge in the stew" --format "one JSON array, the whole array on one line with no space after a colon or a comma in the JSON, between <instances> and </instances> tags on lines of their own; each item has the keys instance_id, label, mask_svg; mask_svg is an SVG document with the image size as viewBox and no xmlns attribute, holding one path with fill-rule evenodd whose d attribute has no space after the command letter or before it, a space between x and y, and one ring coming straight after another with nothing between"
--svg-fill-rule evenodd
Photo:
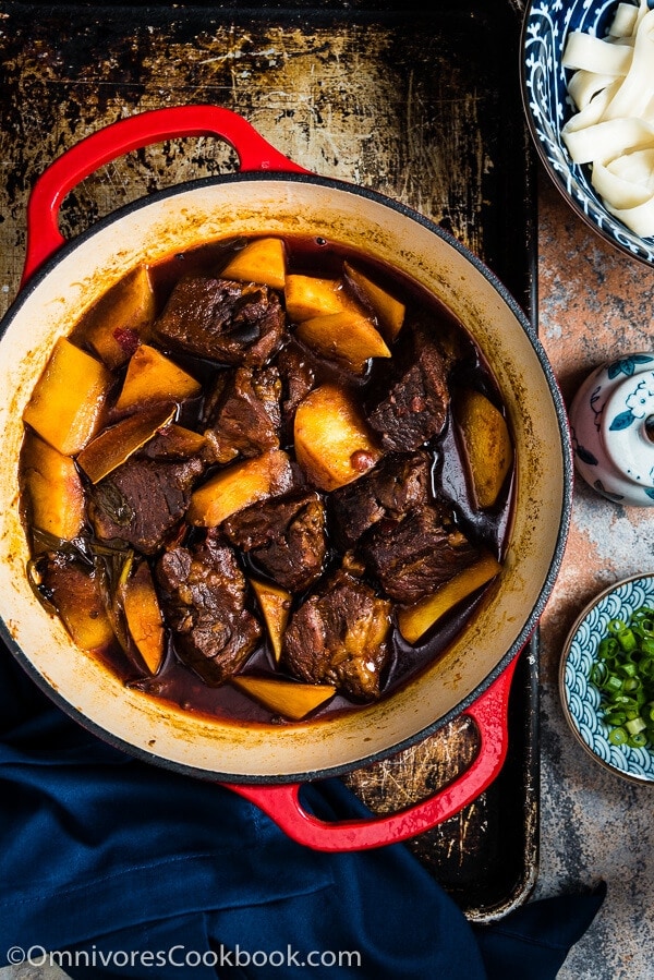
<instances>
[{"instance_id":1,"label":"beef chunk just above the lower-right potato wedge in the stew","mask_svg":"<svg viewBox=\"0 0 654 980\"><path fill-rule=\"evenodd\" d=\"M445 504L380 521L362 540L360 552L387 595L399 603L417 602L479 557Z\"/></svg>"}]
</instances>

